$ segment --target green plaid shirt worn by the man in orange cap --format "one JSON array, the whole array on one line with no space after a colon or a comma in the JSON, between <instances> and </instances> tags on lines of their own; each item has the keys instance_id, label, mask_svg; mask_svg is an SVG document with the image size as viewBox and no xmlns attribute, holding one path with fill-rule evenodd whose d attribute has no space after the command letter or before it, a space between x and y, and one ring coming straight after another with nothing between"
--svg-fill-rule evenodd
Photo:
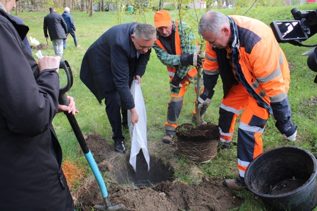
<instances>
[{"instance_id":1,"label":"green plaid shirt worn by the man in orange cap","mask_svg":"<svg viewBox=\"0 0 317 211\"><path fill-rule=\"evenodd\" d=\"M188 26L186 23L182 22L182 26L180 22L177 23L178 26L178 32L180 37L180 47L182 48L182 53L196 53L196 38L195 34L192 33L192 30L190 26ZM183 30L182 30L183 28ZM176 29L176 24L173 21L173 30ZM184 37L183 37L184 32ZM159 36L157 37L159 39ZM186 47L187 46L187 47ZM155 52L157 53L157 56L161 63L166 65L167 67L173 67L176 68L177 72L175 73L180 78L185 78L187 72L191 69L193 69L193 66L185 66L180 64L180 55L172 55L160 48L156 42L154 42L153 48L155 49ZM188 79L191 80L189 76L187 76Z\"/></svg>"}]
</instances>

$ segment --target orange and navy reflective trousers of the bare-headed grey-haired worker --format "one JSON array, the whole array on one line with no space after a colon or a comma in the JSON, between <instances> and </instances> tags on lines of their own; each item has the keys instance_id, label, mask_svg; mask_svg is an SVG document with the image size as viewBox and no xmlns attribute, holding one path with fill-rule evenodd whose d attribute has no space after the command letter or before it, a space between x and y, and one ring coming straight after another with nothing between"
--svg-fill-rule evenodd
<instances>
[{"instance_id":1,"label":"orange and navy reflective trousers of the bare-headed grey-haired worker","mask_svg":"<svg viewBox=\"0 0 317 211\"><path fill-rule=\"evenodd\" d=\"M264 131L269 113L239 83L232 85L228 94L222 99L219 108L220 142L230 142L237 117L242 113L238 128L237 158L240 176L250 162L263 151L261 135Z\"/></svg>"}]
</instances>

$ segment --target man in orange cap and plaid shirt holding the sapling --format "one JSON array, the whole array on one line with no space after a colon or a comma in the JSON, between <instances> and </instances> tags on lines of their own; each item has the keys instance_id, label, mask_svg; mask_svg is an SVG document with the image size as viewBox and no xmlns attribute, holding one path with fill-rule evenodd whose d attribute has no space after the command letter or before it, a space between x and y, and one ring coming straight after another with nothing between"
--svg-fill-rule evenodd
<instances>
[{"instance_id":1,"label":"man in orange cap and plaid shirt holding the sapling","mask_svg":"<svg viewBox=\"0 0 317 211\"><path fill-rule=\"evenodd\" d=\"M167 120L163 143L170 143L177 127L184 94L189 84L194 84L197 91L197 69L202 65L202 57L196 53L196 39L190 27L182 22L172 21L168 11L160 10L154 15L157 28L157 40L153 45L159 60L167 66L170 78L171 99L167 104ZM206 112L206 111L205 111ZM204 112L200 113L201 124ZM196 122L196 109L193 112Z\"/></svg>"}]
</instances>

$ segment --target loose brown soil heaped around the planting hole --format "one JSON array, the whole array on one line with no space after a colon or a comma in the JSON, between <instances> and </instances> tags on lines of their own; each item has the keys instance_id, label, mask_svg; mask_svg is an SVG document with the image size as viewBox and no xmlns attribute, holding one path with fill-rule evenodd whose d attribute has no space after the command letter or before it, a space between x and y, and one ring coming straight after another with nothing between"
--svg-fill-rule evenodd
<instances>
[{"instance_id":1,"label":"loose brown soil heaped around the planting hole","mask_svg":"<svg viewBox=\"0 0 317 211\"><path fill-rule=\"evenodd\" d=\"M175 180L139 187L119 184L116 173L129 168L129 152L125 155L115 153L113 146L98 134L85 135L85 139L100 171L106 175L104 180L112 206L123 204L132 211L230 211L242 203L234 191L222 185L221 178L210 178L202 174L197 174L201 182L192 186ZM157 150L151 149L149 145L148 149L150 152ZM175 149L175 153L179 153L177 151ZM72 192L77 196L76 207L82 211L91 211L94 205L105 206L97 181L90 177L83 183L85 185L76 193Z\"/></svg>"}]
</instances>

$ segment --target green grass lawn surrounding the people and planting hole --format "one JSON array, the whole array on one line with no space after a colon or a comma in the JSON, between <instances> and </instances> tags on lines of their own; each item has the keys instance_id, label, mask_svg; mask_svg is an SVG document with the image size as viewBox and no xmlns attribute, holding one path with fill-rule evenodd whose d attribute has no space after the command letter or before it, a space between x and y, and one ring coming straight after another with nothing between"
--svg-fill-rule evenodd
<instances>
[{"instance_id":1,"label":"green grass lawn surrounding the people and planting hole","mask_svg":"<svg viewBox=\"0 0 317 211\"><path fill-rule=\"evenodd\" d=\"M252 8L246 16L257 18L264 23L269 24L273 20L293 20L290 10L292 7L262 7ZM316 9L316 4L301 5L300 10ZM224 14L242 15L247 9L236 11L233 9L220 10ZM200 11L201 14L203 11ZM14 13L13 13L14 14ZM99 104L95 96L89 89L80 81L79 71L83 55L87 48L95 42L107 29L118 24L116 12L95 12L93 17L89 17L86 12L71 12L74 23L77 28L78 43L80 47L75 47L71 36L67 39L67 49L64 50L63 58L68 61L71 66L74 84L68 95L75 98L76 108L80 111L76 115L77 122L85 133L98 133L112 143L111 127L108 123L104 101ZM172 18L178 19L178 11L171 11ZM189 23L193 30L197 31L197 23L192 21L191 15L193 11L188 11L182 18L182 21ZM24 23L30 27L28 36L36 38L41 43L46 43L43 33L43 18L47 15L44 12L23 12L19 13ZM125 12L121 23L134 22L135 18L139 21L146 20L147 23L153 24L154 12L147 12L144 17L138 17L131 12ZM144 21L142 21L144 22ZM305 42L306 44L317 43L316 36ZM52 43L50 48L42 50L43 55L54 55ZM307 57L301 56L310 48L298 47L291 44L280 44L283 48L291 70L291 84L289 90L289 100L292 108L293 123L298 126L298 138L296 142L287 142L274 126L273 118L269 118L264 134L262 136L264 142L264 151L285 145L295 145L305 148L317 156L317 109L315 103L311 103L309 99L317 97L317 84L314 84L316 73L307 67ZM37 50L33 50L33 55ZM170 98L169 94L169 77L166 72L166 67L160 63L153 49L151 59L147 66L146 73L142 78L142 91L147 110L148 123L148 142L160 142L164 134L164 123L166 121L167 102ZM192 111L194 109L195 92L193 86L189 86L189 90L185 95L184 106L179 118L179 125L191 123ZM206 115L205 121L217 125L218 110L222 99L222 84L221 81L215 87L215 94L211 101ZM79 146L74 136L72 129L62 114L56 115L53 120L53 125L63 149L64 160L73 161L80 165L86 165L83 162L83 155L80 153ZM236 127L238 124L236 124ZM126 142L129 145L129 135L126 133ZM237 130L233 136L233 141L237 140ZM179 166L186 168L187 161L180 158L175 158ZM86 167L87 168L87 167ZM207 176L221 176L222 178L234 178L238 175L236 168L236 147L229 150L221 150L217 157L208 164L198 165L198 168ZM175 178L184 182L191 183L188 179L186 171L175 173ZM244 191L238 193L244 199L244 204L237 209L241 211L264 211L265 206L256 199L251 192Z\"/></svg>"}]
</instances>

